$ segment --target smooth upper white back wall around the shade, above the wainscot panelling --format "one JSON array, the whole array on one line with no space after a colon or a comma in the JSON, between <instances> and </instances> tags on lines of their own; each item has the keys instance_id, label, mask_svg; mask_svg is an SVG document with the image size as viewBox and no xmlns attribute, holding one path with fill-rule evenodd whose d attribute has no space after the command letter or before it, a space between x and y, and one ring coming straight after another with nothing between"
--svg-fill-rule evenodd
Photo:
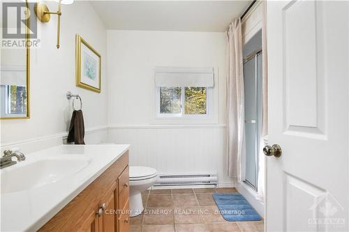
<instances>
[{"instance_id":1,"label":"smooth upper white back wall around the shade, above the wainscot panelling","mask_svg":"<svg viewBox=\"0 0 349 232\"><path fill-rule=\"evenodd\" d=\"M225 109L225 34L107 31L111 125L149 124L154 117L154 68L218 68L219 123Z\"/></svg>"}]
</instances>

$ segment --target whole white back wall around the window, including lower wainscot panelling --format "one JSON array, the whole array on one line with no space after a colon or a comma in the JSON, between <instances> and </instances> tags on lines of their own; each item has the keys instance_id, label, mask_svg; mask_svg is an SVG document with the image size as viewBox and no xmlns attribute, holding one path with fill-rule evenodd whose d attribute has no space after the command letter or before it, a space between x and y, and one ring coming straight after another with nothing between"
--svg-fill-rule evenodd
<instances>
[{"instance_id":1,"label":"whole white back wall around the window, including lower wainscot panelling","mask_svg":"<svg viewBox=\"0 0 349 232\"><path fill-rule=\"evenodd\" d=\"M225 152L225 34L107 31L110 141L131 144L131 165L160 173L216 172L223 186ZM154 124L156 66L218 70L218 123Z\"/></svg>"}]
</instances>

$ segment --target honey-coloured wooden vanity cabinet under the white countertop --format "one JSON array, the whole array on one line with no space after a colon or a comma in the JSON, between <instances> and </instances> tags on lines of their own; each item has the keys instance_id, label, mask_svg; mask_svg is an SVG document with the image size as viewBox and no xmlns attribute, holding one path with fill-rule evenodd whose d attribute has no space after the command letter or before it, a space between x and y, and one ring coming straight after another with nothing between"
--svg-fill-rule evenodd
<instances>
[{"instance_id":1,"label":"honey-coloured wooden vanity cabinet under the white countertop","mask_svg":"<svg viewBox=\"0 0 349 232\"><path fill-rule=\"evenodd\" d=\"M126 151L39 231L128 232L128 198Z\"/></svg>"}]
</instances>

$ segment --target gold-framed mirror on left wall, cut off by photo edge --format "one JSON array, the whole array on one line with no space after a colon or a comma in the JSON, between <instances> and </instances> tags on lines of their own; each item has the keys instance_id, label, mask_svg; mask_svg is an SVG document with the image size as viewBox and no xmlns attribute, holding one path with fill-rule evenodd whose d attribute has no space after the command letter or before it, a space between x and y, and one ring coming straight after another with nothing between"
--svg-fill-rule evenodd
<instances>
[{"instance_id":1,"label":"gold-framed mirror on left wall, cut off by photo edge","mask_svg":"<svg viewBox=\"0 0 349 232\"><path fill-rule=\"evenodd\" d=\"M24 6L28 6L24 3ZM22 15L23 14L23 15ZM22 7L21 18L27 18L29 25L29 17L27 8ZM29 15L29 14L28 14ZM8 31L17 30L17 15L8 13L6 24ZM4 24L4 22L2 22ZM13 41L23 42L24 45L1 47L1 65L0 65L0 117L1 119L29 118L29 26L22 24L20 31L23 38L11 39ZM17 30L18 31L18 30ZM25 43L24 43L25 42Z\"/></svg>"}]
</instances>

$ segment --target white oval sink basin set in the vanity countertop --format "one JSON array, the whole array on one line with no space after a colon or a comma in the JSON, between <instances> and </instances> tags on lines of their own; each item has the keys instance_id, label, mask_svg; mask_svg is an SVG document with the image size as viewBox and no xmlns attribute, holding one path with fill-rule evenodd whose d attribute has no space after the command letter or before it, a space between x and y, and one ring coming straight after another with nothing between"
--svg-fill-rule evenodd
<instances>
[{"instance_id":1,"label":"white oval sink basin set in the vanity countertop","mask_svg":"<svg viewBox=\"0 0 349 232\"><path fill-rule=\"evenodd\" d=\"M23 161L20 164L24 164ZM83 159L47 159L38 160L20 167L13 167L1 173L1 194L31 190L50 183L57 182L63 178L77 173L89 162Z\"/></svg>"}]
</instances>

